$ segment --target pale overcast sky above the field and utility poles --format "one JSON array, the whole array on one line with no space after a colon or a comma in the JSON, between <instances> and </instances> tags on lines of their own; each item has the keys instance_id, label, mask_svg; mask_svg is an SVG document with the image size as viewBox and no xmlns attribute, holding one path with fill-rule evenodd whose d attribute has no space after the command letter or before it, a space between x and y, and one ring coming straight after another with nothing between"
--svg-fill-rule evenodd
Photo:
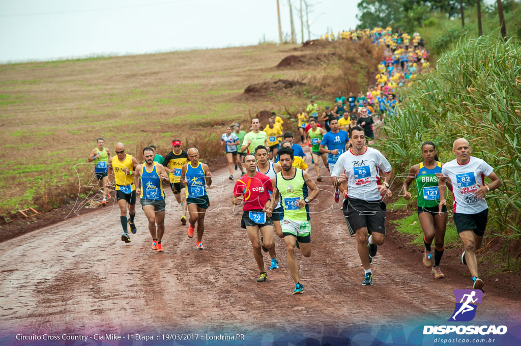
<instances>
[{"instance_id":1,"label":"pale overcast sky above the field and utility poles","mask_svg":"<svg viewBox=\"0 0 521 346\"><path fill-rule=\"evenodd\" d=\"M288 0L279 0L290 32ZM315 4L311 38L356 27L358 0ZM278 42L276 0L0 0L0 63ZM293 18L301 41L300 0ZM305 16L305 14L304 14ZM305 20L305 19L304 19ZM305 39L307 32L305 30Z\"/></svg>"}]
</instances>

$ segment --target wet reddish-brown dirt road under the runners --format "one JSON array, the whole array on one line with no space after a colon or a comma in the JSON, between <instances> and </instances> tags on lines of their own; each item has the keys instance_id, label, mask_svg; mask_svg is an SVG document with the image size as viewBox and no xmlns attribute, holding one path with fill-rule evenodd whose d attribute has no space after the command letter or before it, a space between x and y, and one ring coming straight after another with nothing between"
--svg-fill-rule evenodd
<instances>
[{"instance_id":1,"label":"wet reddish-brown dirt road under the runners","mask_svg":"<svg viewBox=\"0 0 521 346\"><path fill-rule=\"evenodd\" d=\"M313 169L310 172L314 176ZM223 178L214 178L209 190L202 251L195 249L195 238L187 237L188 226L181 226L180 206L170 191L164 253L150 249L139 203L138 232L130 244L119 239L119 212L113 205L0 243L0 332L337 328L371 321L446 321L454 309L452 290L469 288L468 276L458 274L466 271L451 269L457 266L454 260L443 264L447 277L435 281L417 252L392 244L380 246L374 286L363 287L356 240L349 236L327 182L319 183L320 204L311 207L312 257L297 255L305 294L291 294L281 239L276 239L280 269L269 271L267 282L256 283L258 269L240 228L241 213L230 203L234 182L227 179L227 168L213 175ZM269 264L267 254L265 262ZM503 298L501 290L488 290L484 302L479 318L519 315L519 298Z\"/></svg>"}]
</instances>

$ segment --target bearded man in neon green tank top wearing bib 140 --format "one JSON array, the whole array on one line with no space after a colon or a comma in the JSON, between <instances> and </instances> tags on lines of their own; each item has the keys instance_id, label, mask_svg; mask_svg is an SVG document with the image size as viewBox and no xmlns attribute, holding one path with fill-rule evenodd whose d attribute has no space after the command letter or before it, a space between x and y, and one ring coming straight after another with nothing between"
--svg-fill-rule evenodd
<instances>
[{"instance_id":1,"label":"bearded man in neon green tank top wearing bib 140","mask_svg":"<svg viewBox=\"0 0 521 346\"><path fill-rule=\"evenodd\" d=\"M280 226L288 248L288 267L295 281L293 294L302 294L304 286L300 283L295 246L300 248L304 257L311 256L311 222L308 203L318 196L319 190L307 172L293 167L293 158L293 149L290 147L282 147L279 150L279 164L282 170L271 179L273 184L271 210L277 206L280 196L284 208Z\"/></svg>"}]
</instances>

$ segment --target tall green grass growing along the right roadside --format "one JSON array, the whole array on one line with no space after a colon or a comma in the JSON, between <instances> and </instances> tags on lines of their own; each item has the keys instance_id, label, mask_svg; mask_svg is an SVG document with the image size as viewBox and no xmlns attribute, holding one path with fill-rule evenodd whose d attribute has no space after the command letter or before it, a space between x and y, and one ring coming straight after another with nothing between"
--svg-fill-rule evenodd
<instances>
[{"instance_id":1,"label":"tall green grass growing along the right roadside","mask_svg":"<svg viewBox=\"0 0 521 346\"><path fill-rule=\"evenodd\" d=\"M403 95L388 120L386 152L396 172L421 159L420 145L433 141L442 162L452 142L469 140L473 156L494 167L503 186L488 194L489 229L506 240L521 239L521 44L496 35L461 39Z\"/></svg>"}]
</instances>

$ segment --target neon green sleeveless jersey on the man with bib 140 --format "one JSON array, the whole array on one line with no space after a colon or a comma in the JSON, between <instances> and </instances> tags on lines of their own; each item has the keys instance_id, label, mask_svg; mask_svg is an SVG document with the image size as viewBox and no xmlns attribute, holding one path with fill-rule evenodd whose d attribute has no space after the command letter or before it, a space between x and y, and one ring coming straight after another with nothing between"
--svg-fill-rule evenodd
<instances>
[{"instance_id":1,"label":"neon green sleeveless jersey on the man with bib 140","mask_svg":"<svg viewBox=\"0 0 521 346\"><path fill-rule=\"evenodd\" d=\"M299 209L299 200L307 197L307 185L304 180L304 171L295 168L295 176L291 179L284 179L282 171L277 173L277 190L281 197L281 204L284 207L284 219L292 221L309 220L309 206Z\"/></svg>"}]
</instances>

